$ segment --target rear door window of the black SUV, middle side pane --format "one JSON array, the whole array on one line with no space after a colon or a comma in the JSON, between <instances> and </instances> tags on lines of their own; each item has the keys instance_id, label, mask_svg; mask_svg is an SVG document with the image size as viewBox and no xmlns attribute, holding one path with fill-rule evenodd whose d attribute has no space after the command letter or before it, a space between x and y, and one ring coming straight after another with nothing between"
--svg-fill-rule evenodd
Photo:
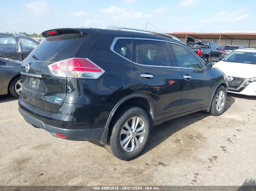
<instances>
[{"instance_id":1,"label":"rear door window of the black SUV, middle side pane","mask_svg":"<svg viewBox=\"0 0 256 191\"><path fill-rule=\"evenodd\" d=\"M137 63L173 66L167 44L153 40L137 40Z\"/></svg>"}]
</instances>

